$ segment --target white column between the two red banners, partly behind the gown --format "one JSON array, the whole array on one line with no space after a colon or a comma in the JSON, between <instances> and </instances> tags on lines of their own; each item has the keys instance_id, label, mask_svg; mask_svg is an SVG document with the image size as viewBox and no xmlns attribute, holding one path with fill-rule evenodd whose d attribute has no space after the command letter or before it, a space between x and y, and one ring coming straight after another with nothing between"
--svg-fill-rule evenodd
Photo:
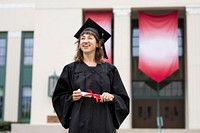
<instances>
[{"instance_id":1,"label":"white column between the two red banners, partly behind the gown","mask_svg":"<svg viewBox=\"0 0 200 133\"><path fill-rule=\"evenodd\" d=\"M131 9L116 8L114 12L114 64L118 68L122 81L130 96L130 114L120 128L131 128Z\"/></svg>"}]
</instances>

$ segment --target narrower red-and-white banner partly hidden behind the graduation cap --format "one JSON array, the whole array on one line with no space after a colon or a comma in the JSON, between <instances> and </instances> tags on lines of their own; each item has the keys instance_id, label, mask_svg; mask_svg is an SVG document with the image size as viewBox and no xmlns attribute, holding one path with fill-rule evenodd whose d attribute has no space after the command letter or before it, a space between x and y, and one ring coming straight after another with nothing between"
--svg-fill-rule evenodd
<instances>
[{"instance_id":1,"label":"narrower red-and-white banner partly hidden behind the graduation cap","mask_svg":"<svg viewBox=\"0 0 200 133\"><path fill-rule=\"evenodd\" d=\"M103 27L108 33L111 34L111 24L112 24L112 12L85 12L85 20L88 18L91 18L94 20L97 24L99 24L101 27ZM105 43L106 53L108 56L108 59L105 59L106 62L112 63L112 44L111 44L111 38L108 39Z\"/></svg>"}]
</instances>

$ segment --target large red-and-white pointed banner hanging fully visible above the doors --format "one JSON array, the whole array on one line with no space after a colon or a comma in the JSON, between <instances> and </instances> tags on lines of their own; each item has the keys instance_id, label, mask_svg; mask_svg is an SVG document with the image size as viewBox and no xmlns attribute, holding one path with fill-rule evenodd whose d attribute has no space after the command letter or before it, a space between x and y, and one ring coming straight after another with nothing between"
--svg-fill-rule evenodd
<instances>
[{"instance_id":1,"label":"large red-and-white pointed banner hanging fully visible above the doors","mask_svg":"<svg viewBox=\"0 0 200 133\"><path fill-rule=\"evenodd\" d=\"M139 12L139 69L160 82L179 68L178 13Z\"/></svg>"}]
</instances>

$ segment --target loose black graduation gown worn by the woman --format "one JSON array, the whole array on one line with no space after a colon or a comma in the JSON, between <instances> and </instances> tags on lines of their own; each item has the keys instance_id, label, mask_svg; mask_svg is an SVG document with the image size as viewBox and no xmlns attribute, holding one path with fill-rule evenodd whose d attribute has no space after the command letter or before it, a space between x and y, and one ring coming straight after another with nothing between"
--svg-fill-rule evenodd
<instances>
[{"instance_id":1,"label":"loose black graduation gown worn by the woman","mask_svg":"<svg viewBox=\"0 0 200 133\"><path fill-rule=\"evenodd\" d=\"M81 89L115 96L113 102L96 102L82 97L72 102L72 92ZM66 65L58 79L53 97L53 107L64 128L69 133L116 133L116 129L129 114L129 97L117 68L109 63L89 67L84 62Z\"/></svg>"}]
</instances>

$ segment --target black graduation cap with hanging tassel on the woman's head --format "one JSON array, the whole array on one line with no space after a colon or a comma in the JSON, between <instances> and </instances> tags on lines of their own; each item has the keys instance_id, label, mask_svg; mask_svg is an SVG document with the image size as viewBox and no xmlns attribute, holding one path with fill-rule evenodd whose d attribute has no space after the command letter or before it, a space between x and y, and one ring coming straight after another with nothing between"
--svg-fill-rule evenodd
<instances>
[{"instance_id":1,"label":"black graduation cap with hanging tassel on the woman's head","mask_svg":"<svg viewBox=\"0 0 200 133\"><path fill-rule=\"evenodd\" d=\"M78 32L74 35L74 37L78 39L83 31L93 32L98 37L98 39L104 39L104 43L111 37L110 33L108 33L106 30L104 30L100 25L98 25L90 18L88 18L85 21L83 26L78 30ZM102 44L104 58L108 59L104 43Z\"/></svg>"}]
</instances>

